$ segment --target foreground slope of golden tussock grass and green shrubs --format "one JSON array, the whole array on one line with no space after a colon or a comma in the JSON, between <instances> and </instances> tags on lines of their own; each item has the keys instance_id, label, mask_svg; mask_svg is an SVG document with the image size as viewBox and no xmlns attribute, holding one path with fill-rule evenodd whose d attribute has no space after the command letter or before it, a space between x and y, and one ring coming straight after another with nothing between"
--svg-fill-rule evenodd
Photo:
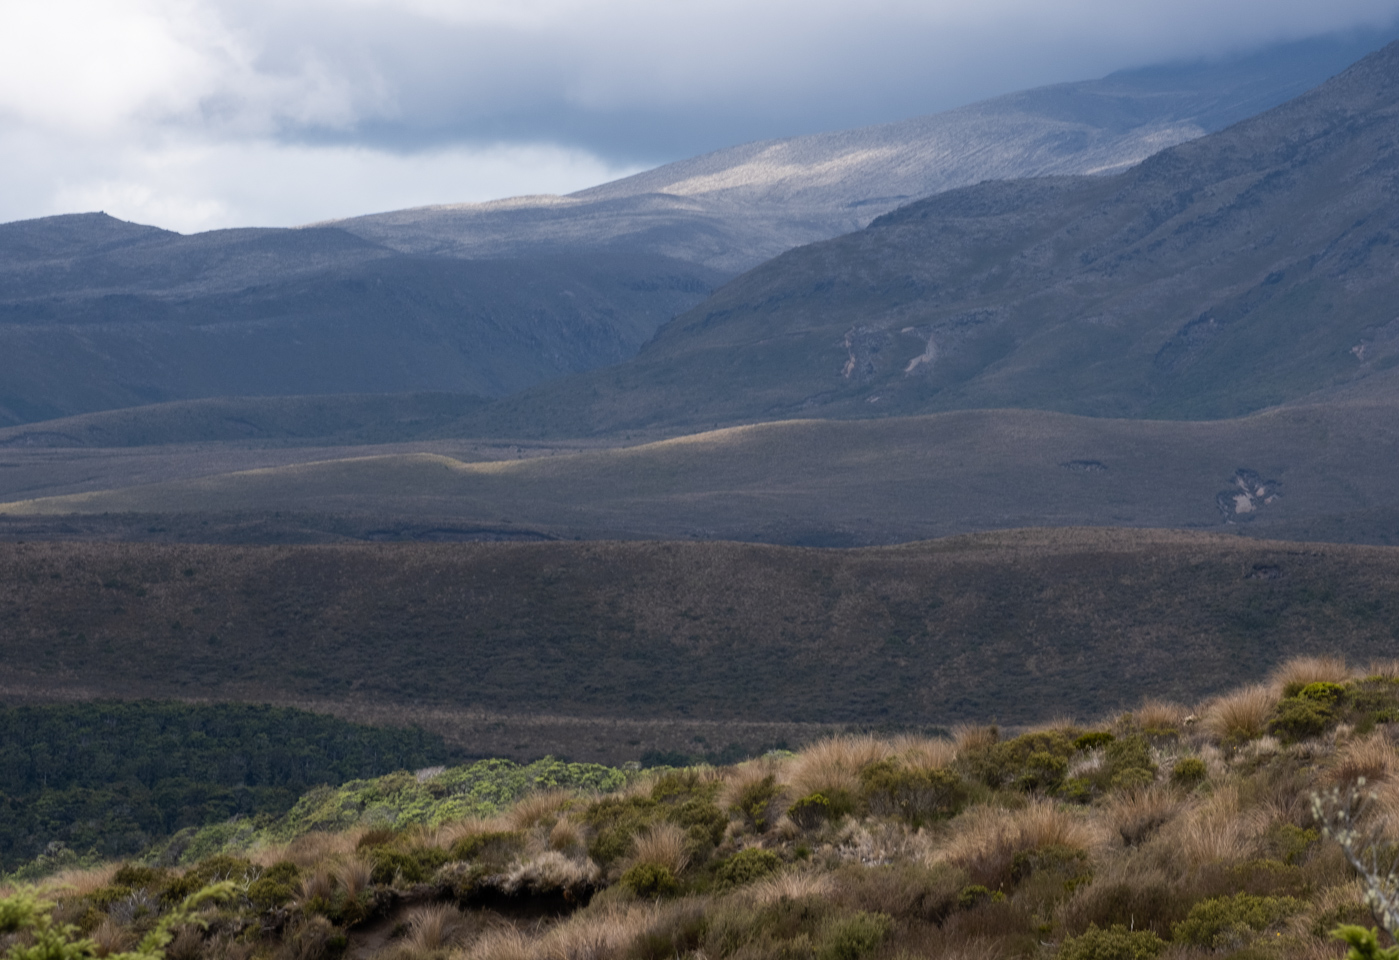
<instances>
[{"instance_id":1,"label":"foreground slope of golden tussock grass and green shrubs","mask_svg":"<svg viewBox=\"0 0 1399 960\"><path fill-rule=\"evenodd\" d=\"M165 929L172 960L1339 957L1332 931L1374 921L1325 798L1363 785L1361 833L1399 842L1396 732L1399 665L1294 661L1098 723L837 737L71 870L7 910L71 925L78 956Z\"/></svg>"}]
</instances>

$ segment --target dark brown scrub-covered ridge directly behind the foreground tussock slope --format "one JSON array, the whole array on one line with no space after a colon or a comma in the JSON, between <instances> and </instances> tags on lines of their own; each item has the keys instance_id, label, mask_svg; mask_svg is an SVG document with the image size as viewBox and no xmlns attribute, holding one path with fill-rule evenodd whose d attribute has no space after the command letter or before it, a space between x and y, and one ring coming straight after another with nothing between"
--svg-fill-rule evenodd
<instances>
[{"instance_id":1,"label":"dark brown scrub-covered ridge directly behind the foreground tussock slope","mask_svg":"<svg viewBox=\"0 0 1399 960\"><path fill-rule=\"evenodd\" d=\"M1294 654L1385 656L1396 588L1388 547L1160 530L848 551L0 544L0 689L399 704L600 729L1018 723L1195 698ZM635 729L616 728L607 756L649 749Z\"/></svg>"}]
</instances>

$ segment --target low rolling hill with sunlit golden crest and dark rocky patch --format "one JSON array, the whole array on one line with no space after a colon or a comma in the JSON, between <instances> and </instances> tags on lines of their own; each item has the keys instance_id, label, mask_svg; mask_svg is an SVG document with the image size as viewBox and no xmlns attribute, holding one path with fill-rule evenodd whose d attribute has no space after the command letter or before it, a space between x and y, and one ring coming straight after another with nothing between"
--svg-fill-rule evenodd
<instances>
[{"instance_id":1,"label":"low rolling hill with sunlit golden crest and dark rocky patch","mask_svg":"<svg viewBox=\"0 0 1399 960\"><path fill-rule=\"evenodd\" d=\"M25 500L0 514L337 514L354 518L346 536L355 525L399 525L824 546L1067 525L1279 529L1379 543L1399 533L1392 402L1209 423L1034 410L785 421L488 463L355 452L318 462L325 453L309 449L302 463ZM83 456L85 476L101 470L101 456ZM189 466L207 472L207 463Z\"/></svg>"}]
</instances>

